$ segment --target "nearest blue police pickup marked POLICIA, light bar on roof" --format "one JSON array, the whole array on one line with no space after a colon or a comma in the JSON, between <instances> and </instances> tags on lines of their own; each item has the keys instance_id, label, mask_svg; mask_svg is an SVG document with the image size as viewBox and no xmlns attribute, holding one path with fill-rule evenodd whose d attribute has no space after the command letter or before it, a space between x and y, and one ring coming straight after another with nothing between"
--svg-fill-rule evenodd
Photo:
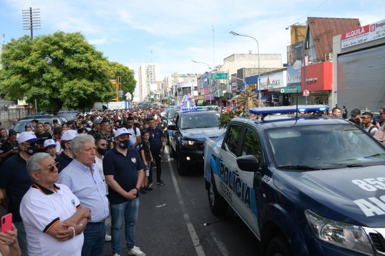
<instances>
[{"instance_id":1,"label":"nearest blue police pickup marked POLICIA, light bar on roof","mask_svg":"<svg viewBox=\"0 0 385 256\"><path fill-rule=\"evenodd\" d=\"M205 142L211 211L230 205L260 255L385 255L385 148L317 114L328 109L254 108L258 120L233 119Z\"/></svg>"}]
</instances>

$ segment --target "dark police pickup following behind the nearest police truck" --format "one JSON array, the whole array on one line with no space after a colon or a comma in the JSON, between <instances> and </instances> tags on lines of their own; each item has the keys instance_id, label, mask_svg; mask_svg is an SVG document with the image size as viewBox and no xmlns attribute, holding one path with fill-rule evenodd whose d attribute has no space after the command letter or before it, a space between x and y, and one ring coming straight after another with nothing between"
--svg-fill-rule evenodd
<instances>
[{"instance_id":1,"label":"dark police pickup following behind the nearest police truck","mask_svg":"<svg viewBox=\"0 0 385 256\"><path fill-rule=\"evenodd\" d=\"M181 108L168 125L170 156L177 160L178 173L185 174L187 166L203 164L203 144L207 137L218 137L219 113L211 107Z\"/></svg>"}]
</instances>

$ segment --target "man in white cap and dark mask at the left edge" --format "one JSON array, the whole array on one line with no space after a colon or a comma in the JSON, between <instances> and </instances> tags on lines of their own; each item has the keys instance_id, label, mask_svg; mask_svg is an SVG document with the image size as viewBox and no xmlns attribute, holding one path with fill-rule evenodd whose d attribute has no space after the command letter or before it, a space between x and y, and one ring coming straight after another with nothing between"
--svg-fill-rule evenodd
<instances>
[{"instance_id":1,"label":"man in white cap and dark mask at the left edge","mask_svg":"<svg viewBox=\"0 0 385 256\"><path fill-rule=\"evenodd\" d=\"M35 144L39 140L32 131L20 133L17 140L18 154L10 157L0 168L0 188L9 199L8 212L12 213L17 228L17 241L22 255L27 255L27 238L19 210L24 194L32 186L26 164L31 155L38 151ZM0 201L3 200L0 198Z\"/></svg>"}]
</instances>

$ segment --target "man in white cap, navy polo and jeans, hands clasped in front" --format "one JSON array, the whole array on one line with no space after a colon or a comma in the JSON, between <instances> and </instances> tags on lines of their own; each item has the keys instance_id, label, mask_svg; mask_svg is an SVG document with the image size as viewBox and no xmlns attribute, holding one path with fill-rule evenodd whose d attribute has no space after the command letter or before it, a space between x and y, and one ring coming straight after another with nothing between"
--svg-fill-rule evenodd
<instances>
[{"instance_id":1,"label":"man in white cap, navy polo and jeans, hands clasped in front","mask_svg":"<svg viewBox=\"0 0 385 256\"><path fill-rule=\"evenodd\" d=\"M128 148L129 132L115 132L115 147L104 156L103 171L108 184L111 207L112 254L123 255L121 234L125 222L128 255L144 256L135 246L135 225L139 210L139 188L144 179L143 164L137 150Z\"/></svg>"}]
</instances>

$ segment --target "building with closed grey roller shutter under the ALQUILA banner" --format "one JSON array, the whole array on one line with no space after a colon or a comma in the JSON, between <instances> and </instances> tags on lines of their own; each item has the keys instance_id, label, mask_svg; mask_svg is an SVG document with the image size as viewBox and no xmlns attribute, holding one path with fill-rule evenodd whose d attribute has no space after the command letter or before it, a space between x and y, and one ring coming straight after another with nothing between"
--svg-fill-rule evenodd
<instances>
[{"instance_id":1,"label":"building with closed grey roller shutter under the ALQUILA banner","mask_svg":"<svg viewBox=\"0 0 385 256\"><path fill-rule=\"evenodd\" d=\"M331 106L378 111L385 105L385 20L333 37Z\"/></svg>"}]
</instances>

